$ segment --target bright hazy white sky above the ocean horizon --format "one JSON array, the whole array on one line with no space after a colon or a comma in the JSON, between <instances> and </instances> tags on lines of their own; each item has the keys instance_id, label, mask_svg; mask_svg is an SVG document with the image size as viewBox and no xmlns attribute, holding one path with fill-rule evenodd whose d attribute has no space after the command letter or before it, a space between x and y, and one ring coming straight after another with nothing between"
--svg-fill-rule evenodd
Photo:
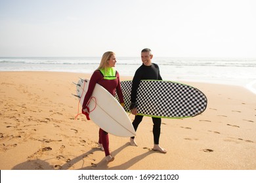
<instances>
[{"instance_id":1,"label":"bright hazy white sky above the ocean horizon","mask_svg":"<svg viewBox=\"0 0 256 183\"><path fill-rule=\"evenodd\" d=\"M255 0L0 0L0 56L256 58Z\"/></svg>"}]
</instances>

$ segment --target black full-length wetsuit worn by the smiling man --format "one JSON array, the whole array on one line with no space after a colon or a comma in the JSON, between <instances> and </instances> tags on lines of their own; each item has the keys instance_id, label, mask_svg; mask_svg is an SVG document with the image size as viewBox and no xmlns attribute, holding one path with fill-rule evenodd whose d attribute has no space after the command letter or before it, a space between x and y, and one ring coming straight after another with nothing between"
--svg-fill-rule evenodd
<instances>
[{"instance_id":1,"label":"black full-length wetsuit worn by the smiling man","mask_svg":"<svg viewBox=\"0 0 256 183\"><path fill-rule=\"evenodd\" d=\"M162 80L160 75L160 69L156 63L152 63L150 66L142 64L139 69L137 69L135 76L133 77L133 85L131 90L131 108L136 107L136 97L137 89L139 88L140 80ZM133 127L135 131L142 121L143 116L135 116L133 120ZM161 118L152 117L153 125L153 135L154 135L154 144L159 144L160 132L161 132ZM134 138L134 137L132 137Z\"/></svg>"}]
</instances>

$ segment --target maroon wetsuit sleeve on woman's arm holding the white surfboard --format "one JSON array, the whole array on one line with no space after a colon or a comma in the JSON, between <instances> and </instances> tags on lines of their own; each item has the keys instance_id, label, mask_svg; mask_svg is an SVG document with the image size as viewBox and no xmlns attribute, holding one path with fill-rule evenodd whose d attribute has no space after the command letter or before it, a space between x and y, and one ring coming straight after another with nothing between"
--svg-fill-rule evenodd
<instances>
[{"instance_id":1,"label":"maroon wetsuit sleeve on woman's arm holding the white surfboard","mask_svg":"<svg viewBox=\"0 0 256 183\"><path fill-rule=\"evenodd\" d=\"M93 75L91 76L88 90L87 90L87 93L85 94L85 99L83 99L83 109L85 109L87 107L87 103L88 103L89 99L91 98L91 95L93 94L95 85L100 79L102 79L102 75L100 74L99 71L95 71L93 73Z\"/></svg>"}]
</instances>

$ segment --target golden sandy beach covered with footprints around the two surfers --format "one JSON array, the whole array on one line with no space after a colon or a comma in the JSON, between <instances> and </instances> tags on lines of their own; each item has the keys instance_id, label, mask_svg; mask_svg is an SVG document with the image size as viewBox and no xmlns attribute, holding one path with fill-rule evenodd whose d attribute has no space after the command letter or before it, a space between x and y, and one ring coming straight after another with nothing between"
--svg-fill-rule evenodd
<instances>
[{"instance_id":1,"label":"golden sandy beach covered with footprints around the two surfers","mask_svg":"<svg viewBox=\"0 0 256 183\"><path fill-rule=\"evenodd\" d=\"M0 72L1 170L256 169L256 95L245 88L183 82L202 90L208 105L194 118L162 120L160 145L167 154L152 151L152 120L144 117L139 146L110 135L115 160L106 163L97 145L98 126L83 115L74 119L79 104L72 82L79 77L90 75Z\"/></svg>"}]
</instances>

